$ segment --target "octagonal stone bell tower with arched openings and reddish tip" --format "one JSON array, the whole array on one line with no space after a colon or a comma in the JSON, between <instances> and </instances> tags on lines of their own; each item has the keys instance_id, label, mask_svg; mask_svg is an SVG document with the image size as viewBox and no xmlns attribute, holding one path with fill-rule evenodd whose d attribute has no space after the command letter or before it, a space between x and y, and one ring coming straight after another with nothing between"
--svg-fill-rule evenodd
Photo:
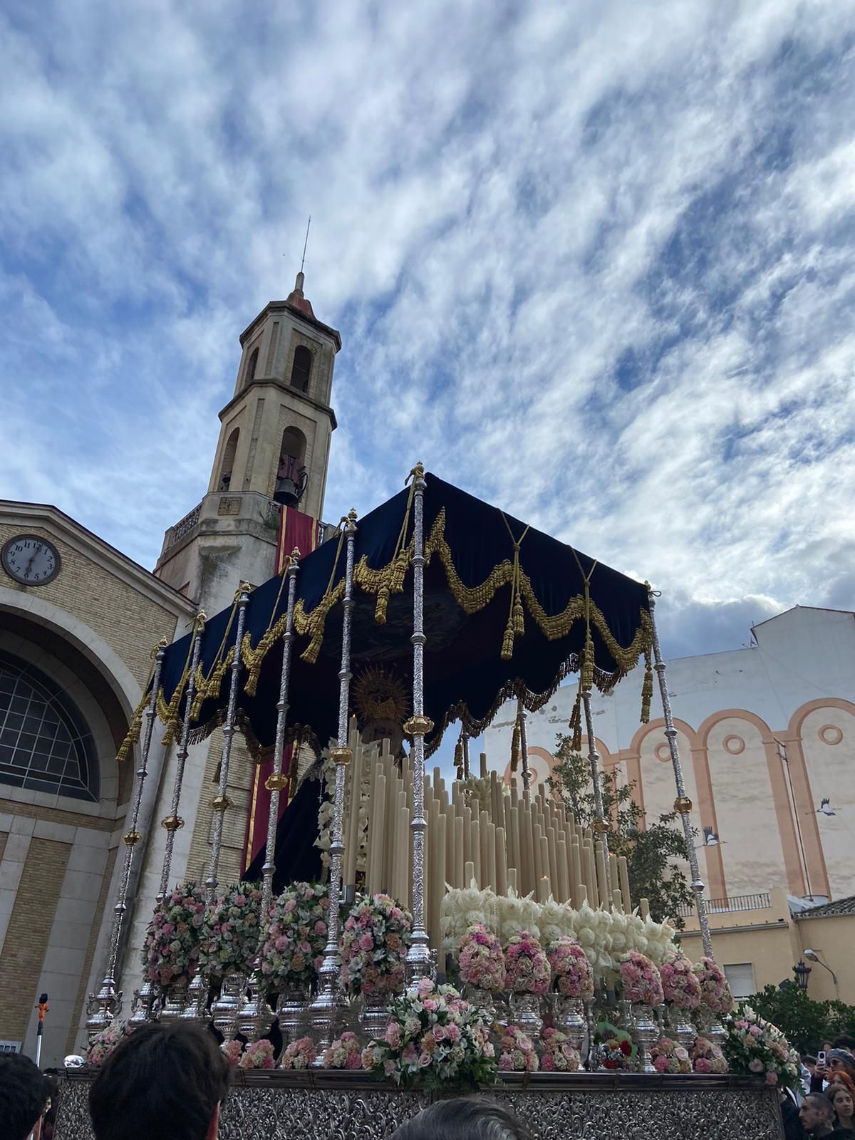
<instances>
[{"instance_id":1,"label":"octagonal stone bell tower with arched openings and reddish tip","mask_svg":"<svg viewBox=\"0 0 855 1140\"><path fill-rule=\"evenodd\" d=\"M280 506L320 519L336 426L341 336L315 316L302 272L241 334L241 349L207 494L166 531L155 568L209 613L231 603L241 580L256 586L276 572Z\"/></svg>"}]
</instances>

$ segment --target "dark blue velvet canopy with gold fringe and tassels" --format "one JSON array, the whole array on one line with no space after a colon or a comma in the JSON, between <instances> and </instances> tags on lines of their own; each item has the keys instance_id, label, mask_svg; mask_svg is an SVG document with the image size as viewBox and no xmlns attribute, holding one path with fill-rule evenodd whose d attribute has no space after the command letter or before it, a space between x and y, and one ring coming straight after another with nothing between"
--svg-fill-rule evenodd
<instances>
[{"instance_id":1,"label":"dark blue velvet canopy with gold fringe and tassels","mask_svg":"<svg viewBox=\"0 0 855 1140\"><path fill-rule=\"evenodd\" d=\"M424 710L434 730L483 731L508 697L539 708L561 681L584 673L608 691L644 654L648 587L527 527L437 475L424 491ZM413 488L357 522L351 667L353 710L365 718L410 711ZM288 736L323 747L337 730L345 551L343 536L300 561ZM238 723L258 754L272 747L287 576L253 589L241 646ZM234 660L236 608L211 618L202 641L194 739L222 723ZM186 715L190 634L166 650L158 711L170 734ZM377 668L380 667L380 668ZM650 686L645 684L645 690ZM400 722L399 722L400 723Z\"/></svg>"}]
</instances>

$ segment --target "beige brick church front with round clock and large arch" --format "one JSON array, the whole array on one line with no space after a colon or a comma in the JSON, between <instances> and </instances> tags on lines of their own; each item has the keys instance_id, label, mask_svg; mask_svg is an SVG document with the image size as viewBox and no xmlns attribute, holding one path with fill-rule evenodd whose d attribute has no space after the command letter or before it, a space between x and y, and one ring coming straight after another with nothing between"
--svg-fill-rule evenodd
<instances>
[{"instance_id":1,"label":"beige brick church front with round clock and large arch","mask_svg":"<svg viewBox=\"0 0 855 1140\"><path fill-rule=\"evenodd\" d=\"M32 1053L47 992L52 1065L104 976L136 767L116 750L192 606L56 507L0 502L0 1049ZM162 765L156 746L144 834Z\"/></svg>"}]
</instances>

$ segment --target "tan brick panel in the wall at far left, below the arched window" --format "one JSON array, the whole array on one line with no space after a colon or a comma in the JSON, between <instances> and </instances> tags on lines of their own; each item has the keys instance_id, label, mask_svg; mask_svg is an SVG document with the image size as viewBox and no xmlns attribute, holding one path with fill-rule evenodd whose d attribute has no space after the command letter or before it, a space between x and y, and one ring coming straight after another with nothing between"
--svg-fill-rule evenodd
<instances>
[{"instance_id":1,"label":"tan brick panel in the wall at far left, below the arched window","mask_svg":"<svg viewBox=\"0 0 855 1140\"><path fill-rule=\"evenodd\" d=\"M0 1037L23 1041L33 1013L33 986L41 971L70 844L33 839L24 863L0 958Z\"/></svg>"}]
</instances>

